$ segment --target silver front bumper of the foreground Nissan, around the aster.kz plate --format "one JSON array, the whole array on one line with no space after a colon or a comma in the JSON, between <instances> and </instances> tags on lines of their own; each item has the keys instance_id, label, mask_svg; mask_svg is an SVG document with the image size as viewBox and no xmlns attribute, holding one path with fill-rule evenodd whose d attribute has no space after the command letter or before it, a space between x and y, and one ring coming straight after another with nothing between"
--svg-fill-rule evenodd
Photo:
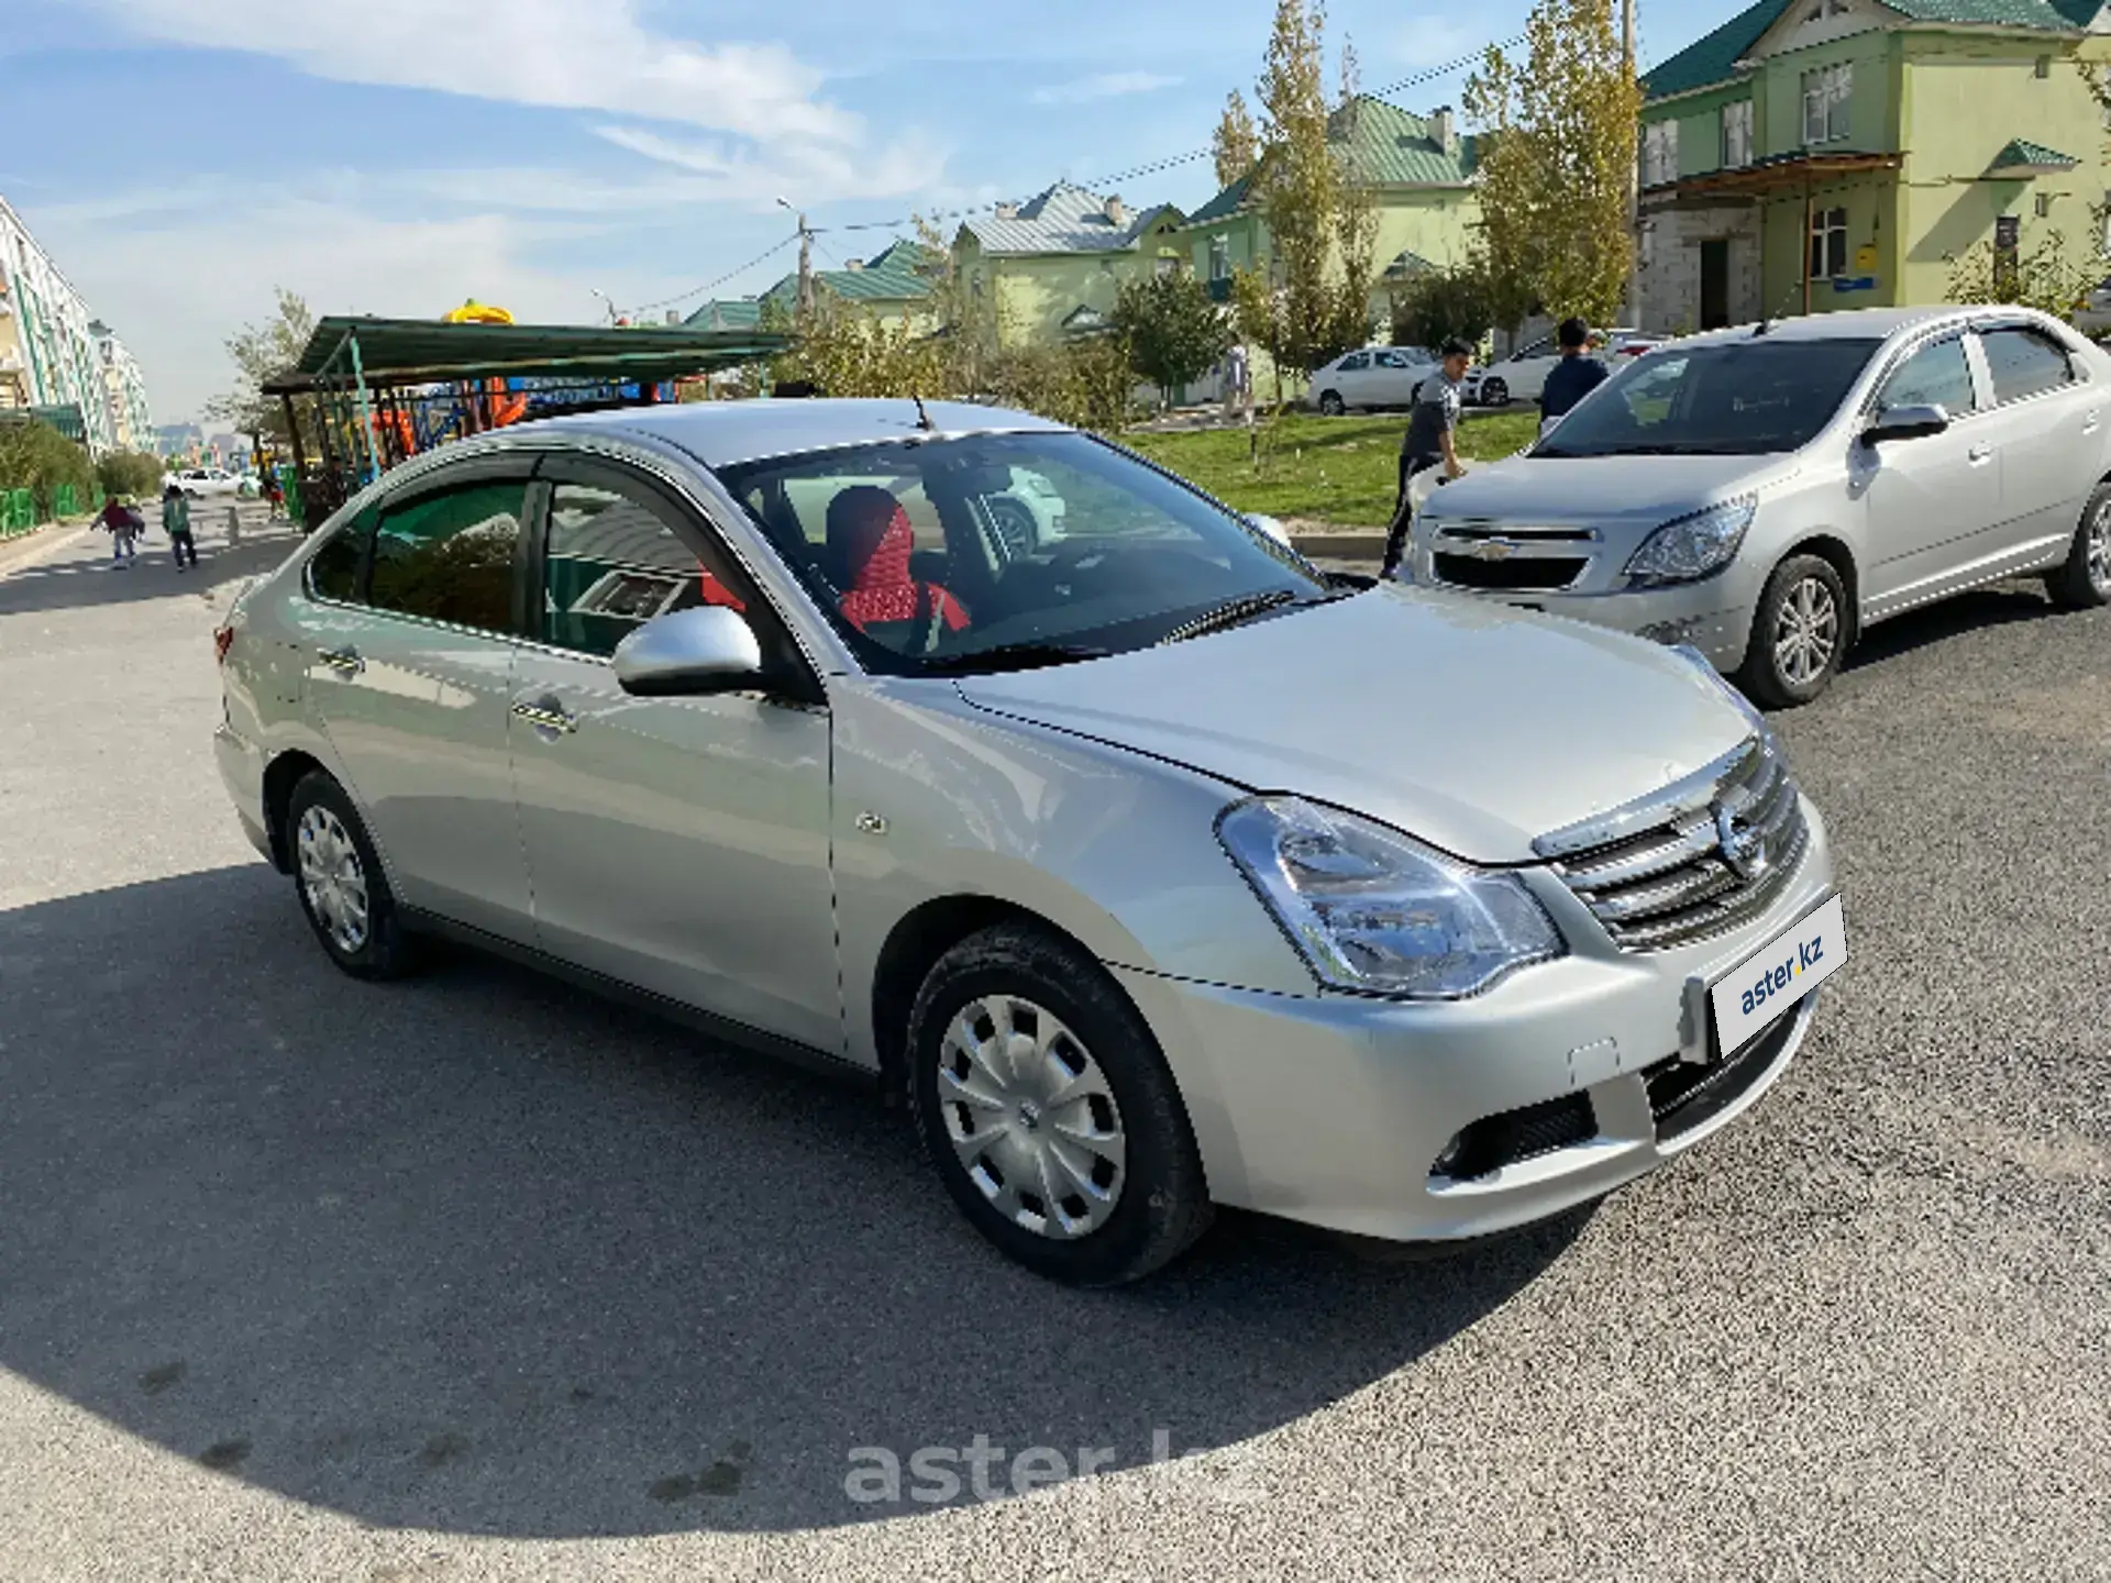
<instances>
[{"instance_id":1,"label":"silver front bumper of the foreground Nissan, around the aster.kz plate","mask_svg":"<svg viewBox=\"0 0 2111 1583\"><path fill-rule=\"evenodd\" d=\"M1389 1241L1482 1237L1676 1159L1786 1070L1815 992L1729 1060L1682 1062L1680 1045L1689 979L1714 981L1832 895L1824 825L1809 804L1805 817L1809 844L1773 905L1676 950L1619 952L1556 878L1533 874L1571 956L1471 1000L1115 973L1174 1068L1212 1199ZM1490 1136L1503 1140L1492 1169L1438 1169L1454 1142Z\"/></svg>"}]
</instances>

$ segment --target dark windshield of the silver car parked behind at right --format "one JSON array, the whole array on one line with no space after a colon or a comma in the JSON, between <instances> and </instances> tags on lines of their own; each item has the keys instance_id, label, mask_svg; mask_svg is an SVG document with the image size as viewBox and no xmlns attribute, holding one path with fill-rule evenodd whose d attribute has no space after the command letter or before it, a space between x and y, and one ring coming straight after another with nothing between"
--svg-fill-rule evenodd
<instances>
[{"instance_id":1,"label":"dark windshield of the silver car parked behind at right","mask_svg":"<svg viewBox=\"0 0 2111 1583\"><path fill-rule=\"evenodd\" d=\"M1644 352L1530 456L1767 456L1824 428L1877 340L1735 340Z\"/></svg>"}]
</instances>

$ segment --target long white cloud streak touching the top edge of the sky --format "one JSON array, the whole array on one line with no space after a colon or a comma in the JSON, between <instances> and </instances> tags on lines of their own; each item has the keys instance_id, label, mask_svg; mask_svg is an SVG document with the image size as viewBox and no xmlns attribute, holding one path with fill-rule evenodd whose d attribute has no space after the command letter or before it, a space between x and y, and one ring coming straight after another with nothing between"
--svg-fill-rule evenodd
<instances>
[{"instance_id":1,"label":"long white cloud streak touching the top edge of the sky","mask_svg":"<svg viewBox=\"0 0 2111 1583\"><path fill-rule=\"evenodd\" d=\"M137 34L277 55L342 82L678 120L754 139L847 144L859 120L817 99L783 44L652 32L638 0L89 0Z\"/></svg>"}]
</instances>

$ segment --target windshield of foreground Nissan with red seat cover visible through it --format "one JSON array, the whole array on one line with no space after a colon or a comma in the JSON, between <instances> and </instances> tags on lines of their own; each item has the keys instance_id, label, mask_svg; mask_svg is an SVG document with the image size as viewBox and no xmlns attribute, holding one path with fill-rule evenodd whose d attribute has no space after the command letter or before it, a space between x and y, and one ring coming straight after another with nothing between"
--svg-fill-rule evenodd
<instances>
[{"instance_id":1,"label":"windshield of foreground Nissan with red seat cover visible through it","mask_svg":"<svg viewBox=\"0 0 2111 1583\"><path fill-rule=\"evenodd\" d=\"M1336 597L1239 517L1087 435L965 435L718 469L868 669L1089 659Z\"/></svg>"}]
</instances>

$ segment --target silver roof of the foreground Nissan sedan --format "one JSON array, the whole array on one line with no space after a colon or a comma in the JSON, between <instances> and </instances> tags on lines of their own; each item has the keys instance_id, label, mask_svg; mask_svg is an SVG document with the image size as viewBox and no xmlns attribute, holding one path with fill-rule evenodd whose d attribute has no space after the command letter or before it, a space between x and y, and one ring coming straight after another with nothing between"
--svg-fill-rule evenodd
<instances>
[{"instance_id":1,"label":"silver roof of the foreground Nissan sedan","mask_svg":"<svg viewBox=\"0 0 2111 1583\"><path fill-rule=\"evenodd\" d=\"M973 401L927 401L931 428L956 433L1066 433L1066 424L1030 412L986 407ZM513 424L509 437L568 433L631 433L671 441L705 466L735 466L764 456L874 445L912 439L923 431L916 403L899 399L771 399L682 401L661 407L616 407Z\"/></svg>"}]
</instances>

